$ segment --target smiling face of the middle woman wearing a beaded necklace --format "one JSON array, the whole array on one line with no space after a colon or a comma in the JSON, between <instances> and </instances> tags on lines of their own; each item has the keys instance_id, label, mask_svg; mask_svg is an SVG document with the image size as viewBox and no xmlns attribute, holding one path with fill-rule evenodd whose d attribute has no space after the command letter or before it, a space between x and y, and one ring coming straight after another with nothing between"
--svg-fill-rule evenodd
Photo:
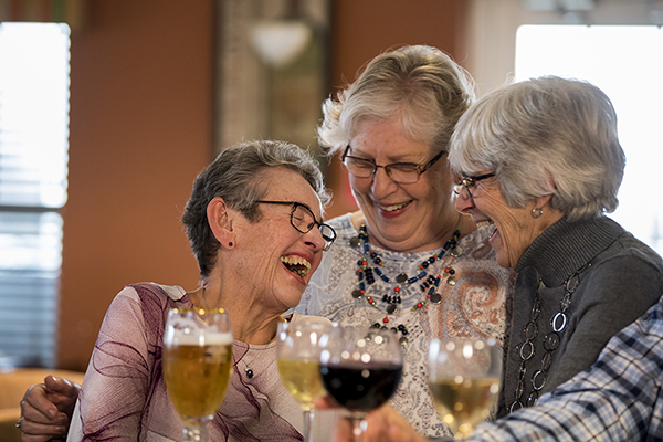
<instances>
[{"instance_id":1,"label":"smiling face of the middle woman wearing a beaded necklace","mask_svg":"<svg viewBox=\"0 0 663 442\"><path fill-rule=\"evenodd\" d=\"M425 165L439 150L403 136L397 119L365 122L350 140L348 155L373 160ZM383 168L369 178L349 173L352 193L366 217L370 242L399 252L431 250L440 241L441 220L457 219L453 209L453 179L446 156L431 166L418 182L392 181ZM446 232L444 232L445 234Z\"/></svg>"}]
</instances>

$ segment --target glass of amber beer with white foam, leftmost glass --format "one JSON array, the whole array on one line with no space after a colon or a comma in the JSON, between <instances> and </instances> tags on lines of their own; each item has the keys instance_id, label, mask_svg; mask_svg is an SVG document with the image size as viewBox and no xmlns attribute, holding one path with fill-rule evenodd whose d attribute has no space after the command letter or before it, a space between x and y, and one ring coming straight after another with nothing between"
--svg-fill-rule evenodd
<instances>
[{"instance_id":1,"label":"glass of amber beer with white foam, leftmost glass","mask_svg":"<svg viewBox=\"0 0 663 442\"><path fill-rule=\"evenodd\" d=\"M185 421L182 441L207 442L208 423L225 396L232 333L222 308L173 308L164 333L164 378Z\"/></svg>"}]
</instances>

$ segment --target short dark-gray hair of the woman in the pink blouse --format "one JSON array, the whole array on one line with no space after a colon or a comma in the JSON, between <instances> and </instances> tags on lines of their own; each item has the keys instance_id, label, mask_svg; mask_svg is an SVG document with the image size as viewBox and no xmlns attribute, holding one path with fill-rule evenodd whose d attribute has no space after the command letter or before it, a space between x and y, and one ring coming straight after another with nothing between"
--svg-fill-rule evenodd
<instances>
[{"instance_id":1,"label":"short dark-gray hair of the woman in the pink blouse","mask_svg":"<svg viewBox=\"0 0 663 442\"><path fill-rule=\"evenodd\" d=\"M317 162L298 146L285 141L255 140L223 149L196 178L182 214L189 245L202 277L209 275L215 264L220 246L209 225L208 204L221 197L229 208L240 211L250 222L257 222L261 213L255 201L263 199L269 190L260 170L273 167L296 171L308 181L323 207L329 202L330 197Z\"/></svg>"}]
</instances>

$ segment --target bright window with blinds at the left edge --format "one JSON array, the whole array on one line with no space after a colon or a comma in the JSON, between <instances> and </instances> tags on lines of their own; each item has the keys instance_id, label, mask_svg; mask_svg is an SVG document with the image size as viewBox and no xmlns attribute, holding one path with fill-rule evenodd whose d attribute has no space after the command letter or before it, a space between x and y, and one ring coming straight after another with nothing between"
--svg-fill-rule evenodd
<instances>
[{"instance_id":1,"label":"bright window with blinds at the left edge","mask_svg":"<svg viewBox=\"0 0 663 442\"><path fill-rule=\"evenodd\" d=\"M55 366L70 29L0 23L0 366Z\"/></svg>"}]
</instances>

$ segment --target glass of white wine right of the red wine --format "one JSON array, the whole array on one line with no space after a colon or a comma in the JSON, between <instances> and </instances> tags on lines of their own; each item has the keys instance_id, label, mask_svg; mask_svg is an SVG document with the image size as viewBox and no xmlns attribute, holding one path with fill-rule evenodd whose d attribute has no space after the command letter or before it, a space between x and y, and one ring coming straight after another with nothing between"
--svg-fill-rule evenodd
<instances>
[{"instance_id":1,"label":"glass of white wine right of the red wine","mask_svg":"<svg viewBox=\"0 0 663 442\"><path fill-rule=\"evenodd\" d=\"M442 421L466 439L491 415L502 379L502 348L495 339L431 339L429 387Z\"/></svg>"}]
</instances>

